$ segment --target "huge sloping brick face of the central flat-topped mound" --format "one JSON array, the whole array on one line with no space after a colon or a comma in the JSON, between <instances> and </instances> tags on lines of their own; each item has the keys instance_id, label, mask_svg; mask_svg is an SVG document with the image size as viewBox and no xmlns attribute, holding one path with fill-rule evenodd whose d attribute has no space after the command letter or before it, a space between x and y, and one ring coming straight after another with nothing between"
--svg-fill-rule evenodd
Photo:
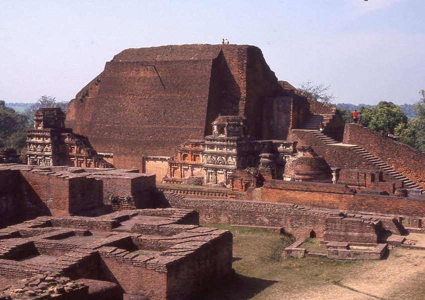
<instances>
[{"instance_id":1,"label":"huge sloping brick face of the central flat-topped mound","mask_svg":"<svg viewBox=\"0 0 425 300\"><path fill-rule=\"evenodd\" d=\"M255 46L127 49L107 62L98 78L69 104L67 126L88 135L97 151L113 152L118 167L142 169L142 155L171 156L183 140L210 134L210 124L220 114L245 115L258 139L277 134L267 133L263 127L268 124L258 117L269 106L262 99L280 89Z\"/></svg>"}]
</instances>

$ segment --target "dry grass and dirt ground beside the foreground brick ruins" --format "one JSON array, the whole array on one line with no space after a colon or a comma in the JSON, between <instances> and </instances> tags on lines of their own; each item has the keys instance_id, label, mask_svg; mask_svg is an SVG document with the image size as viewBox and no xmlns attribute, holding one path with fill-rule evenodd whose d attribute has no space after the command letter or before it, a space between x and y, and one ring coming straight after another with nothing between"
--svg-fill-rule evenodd
<instances>
[{"instance_id":1,"label":"dry grass and dirt ground beside the foreground brick ruins","mask_svg":"<svg viewBox=\"0 0 425 300\"><path fill-rule=\"evenodd\" d=\"M287 237L261 229L212 226L232 231L236 274L193 300L425 299L425 250L394 247L385 259L354 262L281 260L283 248L292 242ZM425 235L407 237L425 243Z\"/></svg>"}]
</instances>

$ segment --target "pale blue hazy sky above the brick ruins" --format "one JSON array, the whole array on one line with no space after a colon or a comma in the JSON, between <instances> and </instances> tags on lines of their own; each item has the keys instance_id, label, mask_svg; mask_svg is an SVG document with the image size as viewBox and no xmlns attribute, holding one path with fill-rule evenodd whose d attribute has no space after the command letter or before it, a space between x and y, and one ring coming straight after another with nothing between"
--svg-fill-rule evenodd
<instances>
[{"instance_id":1,"label":"pale blue hazy sky above the brick ruins","mask_svg":"<svg viewBox=\"0 0 425 300\"><path fill-rule=\"evenodd\" d=\"M70 100L130 47L260 47L280 80L337 102L397 104L425 88L424 0L0 0L0 99Z\"/></svg>"}]
</instances>

